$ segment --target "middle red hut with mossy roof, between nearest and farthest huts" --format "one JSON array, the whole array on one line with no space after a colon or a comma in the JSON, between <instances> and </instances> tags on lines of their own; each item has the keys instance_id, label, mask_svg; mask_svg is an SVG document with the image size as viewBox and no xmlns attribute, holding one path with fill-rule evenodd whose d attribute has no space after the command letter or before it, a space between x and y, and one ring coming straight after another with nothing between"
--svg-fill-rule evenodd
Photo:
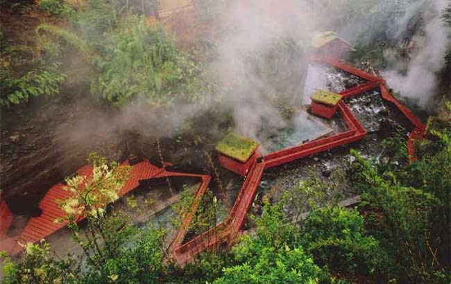
<instances>
[{"instance_id":1,"label":"middle red hut with mossy roof, between nearest and farthest huts","mask_svg":"<svg viewBox=\"0 0 451 284\"><path fill-rule=\"evenodd\" d=\"M313 114L330 119L337 112L338 104L343 96L327 90L317 90L310 96L310 110Z\"/></svg>"}]
</instances>

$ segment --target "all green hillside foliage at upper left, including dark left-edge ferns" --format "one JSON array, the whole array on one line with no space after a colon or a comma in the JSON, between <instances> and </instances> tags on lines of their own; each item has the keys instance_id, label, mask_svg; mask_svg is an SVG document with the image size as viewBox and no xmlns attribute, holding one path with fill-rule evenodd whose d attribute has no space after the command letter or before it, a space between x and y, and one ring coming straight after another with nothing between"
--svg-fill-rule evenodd
<instances>
[{"instance_id":1,"label":"all green hillside foliage at upper left, including dark left-edge ferns","mask_svg":"<svg viewBox=\"0 0 451 284\"><path fill-rule=\"evenodd\" d=\"M178 50L162 26L149 23L128 2L88 0L70 6L40 0L37 7L58 21L37 26L34 46L2 40L2 107L29 96L58 94L65 78L61 70L70 69L68 62L80 55L92 69L92 74L82 75L81 83L114 105L144 100L156 108L167 107L198 100L210 88L203 80L203 64ZM22 48L24 57L24 47L33 53L13 60L11 50ZM14 64L17 61L27 64ZM56 62L62 62L60 69Z\"/></svg>"}]
</instances>

